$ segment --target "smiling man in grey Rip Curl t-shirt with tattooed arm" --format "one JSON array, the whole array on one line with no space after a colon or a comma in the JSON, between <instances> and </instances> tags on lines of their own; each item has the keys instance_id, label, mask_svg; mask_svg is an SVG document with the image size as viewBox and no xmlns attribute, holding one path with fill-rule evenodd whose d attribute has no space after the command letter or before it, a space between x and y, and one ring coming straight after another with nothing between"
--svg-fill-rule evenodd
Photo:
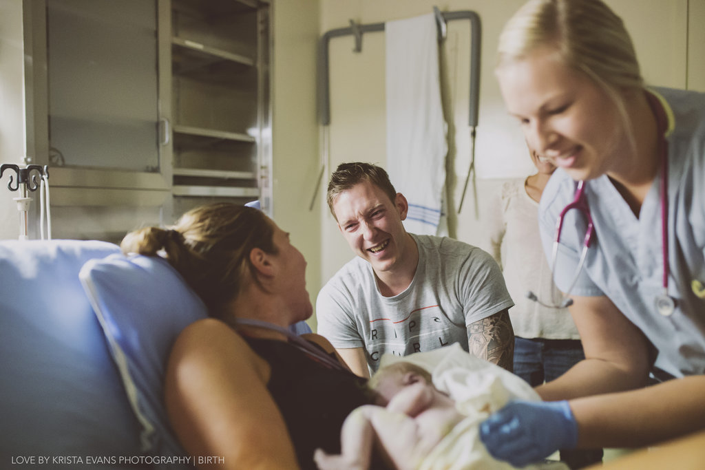
<instances>
[{"instance_id":1,"label":"smiling man in grey Rip Curl t-shirt with tattooed arm","mask_svg":"<svg viewBox=\"0 0 705 470\"><path fill-rule=\"evenodd\" d=\"M452 238L407 233L406 198L370 163L338 166L328 205L357 256L319 292L318 333L350 369L369 377L382 354L459 342L512 370L513 302L489 254Z\"/></svg>"}]
</instances>

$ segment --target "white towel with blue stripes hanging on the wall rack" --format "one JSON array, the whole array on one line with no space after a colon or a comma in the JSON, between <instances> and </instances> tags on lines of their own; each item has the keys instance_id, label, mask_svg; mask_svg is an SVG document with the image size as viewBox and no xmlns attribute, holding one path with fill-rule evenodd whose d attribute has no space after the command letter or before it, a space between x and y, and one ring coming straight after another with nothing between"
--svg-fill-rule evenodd
<instances>
[{"instance_id":1,"label":"white towel with blue stripes hanging on the wall rack","mask_svg":"<svg viewBox=\"0 0 705 470\"><path fill-rule=\"evenodd\" d=\"M407 231L445 235L446 122L433 13L388 21L386 38L387 172L407 198Z\"/></svg>"}]
</instances>

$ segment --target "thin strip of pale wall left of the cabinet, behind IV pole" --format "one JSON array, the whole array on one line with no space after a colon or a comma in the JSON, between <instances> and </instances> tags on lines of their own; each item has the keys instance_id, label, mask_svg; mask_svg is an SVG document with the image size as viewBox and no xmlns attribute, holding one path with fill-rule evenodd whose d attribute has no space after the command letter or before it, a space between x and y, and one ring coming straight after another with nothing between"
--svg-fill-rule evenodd
<instances>
[{"instance_id":1,"label":"thin strip of pale wall left of the cabinet, behind IV pole","mask_svg":"<svg viewBox=\"0 0 705 470\"><path fill-rule=\"evenodd\" d=\"M22 0L0 0L0 163L21 164L25 152L23 64ZM10 174L0 180L0 239L20 235Z\"/></svg>"}]
</instances>

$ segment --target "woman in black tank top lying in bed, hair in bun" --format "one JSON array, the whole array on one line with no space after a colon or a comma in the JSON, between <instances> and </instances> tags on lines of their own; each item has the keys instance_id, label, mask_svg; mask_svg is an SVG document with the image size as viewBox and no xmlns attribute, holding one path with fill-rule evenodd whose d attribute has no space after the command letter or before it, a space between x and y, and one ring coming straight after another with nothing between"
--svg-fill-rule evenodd
<instances>
[{"instance_id":1,"label":"woman in black tank top lying in bed, hair in bun","mask_svg":"<svg viewBox=\"0 0 705 470\"><path fill-rule=\"evenodd\" d=\"M340 452L345 416L374 392L327 340L287 334L312 314L306 261L288 233L257 209L212 204L171 230L130 233L122 247L163 250L209 308L179 335L166 373L166 407L188 454L270 470L316 468L317 447Z\"/></svg>"}]
</instances>

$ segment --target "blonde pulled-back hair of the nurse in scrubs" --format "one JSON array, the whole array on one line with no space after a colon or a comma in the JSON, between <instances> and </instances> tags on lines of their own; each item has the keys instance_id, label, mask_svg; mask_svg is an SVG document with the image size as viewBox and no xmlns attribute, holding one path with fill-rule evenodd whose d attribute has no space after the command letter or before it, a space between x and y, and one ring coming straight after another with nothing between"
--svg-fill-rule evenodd
<instances>
[{"instance_id":1,"label":"blonde pulled-back hair of the nurse in scrubs","mask_svg":"<svg viewBox=\"0 0 705 470\"><path fill-rule=\"evenodd\" d=\"M623 90L644 89L644 79L619 16L601 0L529 0L501 32L497 68L539 48L553 49L558 61L599 86L633 140Z\"/></svg>"}]
</instances>

